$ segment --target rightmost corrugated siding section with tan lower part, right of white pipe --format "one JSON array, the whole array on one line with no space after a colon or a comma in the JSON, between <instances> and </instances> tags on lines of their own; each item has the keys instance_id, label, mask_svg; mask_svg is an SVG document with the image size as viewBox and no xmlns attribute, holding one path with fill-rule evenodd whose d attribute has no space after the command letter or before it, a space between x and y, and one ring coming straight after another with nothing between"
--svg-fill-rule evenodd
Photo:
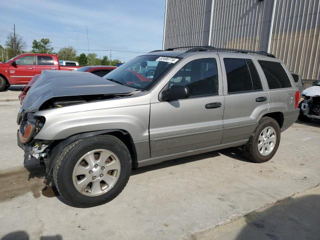
<instances>
[{"instance_id":1,"label":"rightmost corrugated siding section with tan lower part, right of white pipe","mask_svg":"<svg viewBox=\"0 0 320 240\"><path fill-rule=\"evenodd\" d=\"M302 79L320 79L319 0L277 0L270 52Z\"/></svg>"}]
</instances>

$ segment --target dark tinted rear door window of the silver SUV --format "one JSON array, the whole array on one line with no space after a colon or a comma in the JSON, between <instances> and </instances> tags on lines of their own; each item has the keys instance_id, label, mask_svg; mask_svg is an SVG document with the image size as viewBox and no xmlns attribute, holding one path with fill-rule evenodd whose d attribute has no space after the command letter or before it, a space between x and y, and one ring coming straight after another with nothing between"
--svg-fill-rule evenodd
<instances>
[{"instance_id":1,"label":"dark tinted rear door window of the silver SUV","mask_svg":"<svg viewBox=\"0 0 320 240\"><path fill-rule=\"evenodd\" d=\"M223 58L228 93L262 90L259 74L251 59Z\"/></svg>"}]
</instances>

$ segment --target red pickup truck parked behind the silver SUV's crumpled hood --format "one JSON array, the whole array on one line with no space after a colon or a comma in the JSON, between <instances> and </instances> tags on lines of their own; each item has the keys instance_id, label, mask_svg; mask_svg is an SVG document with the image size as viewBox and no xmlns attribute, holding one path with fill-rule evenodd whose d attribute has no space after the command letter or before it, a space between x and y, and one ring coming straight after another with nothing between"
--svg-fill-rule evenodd
<instances>
[{"instance_id":1,"label":"red pickup truck parked behind the silver SUV's crumpled hood","mask_svg":"<svg viewBox=\"0 0 320 240\"><path fill-rule=\"evenodd\" d=\"M12 84L27 84L42 70L74 70L80 66L60 66L55 54L24 53L0 63L0 91Z\"/></svg>"}]
</instances>

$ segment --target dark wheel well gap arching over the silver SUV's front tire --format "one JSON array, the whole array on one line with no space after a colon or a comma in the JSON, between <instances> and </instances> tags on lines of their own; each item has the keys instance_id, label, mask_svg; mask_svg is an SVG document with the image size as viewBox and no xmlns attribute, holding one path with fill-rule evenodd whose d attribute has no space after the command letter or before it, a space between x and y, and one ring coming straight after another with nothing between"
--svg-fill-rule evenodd
<instances>
[{"instance_id":1,"label":"dark wheel well gap arching over the silver SUV's front tire","mask_svg":"<svg viewBox=\"0 0 320 240\"><path fill-rule=\"evenodd\" d=\"M53 167L54 160L58 157L58 155L63 151L63 149L66 146L68 146L72 142L81 138L97 136L97 135L105 135L105 134L113 135L119 138L126 145L132 157L132 166L137 167L137 157L136 157L135 146L130 133L122 129L109 129L109 130L98 130L98 131L78 133L78 134L69 136L65 139L53 141L50 144L50 149L48 153L48 164L46 169L46 175L50 176L52 174L52 167Z\"/></svg>"}]
</instances>

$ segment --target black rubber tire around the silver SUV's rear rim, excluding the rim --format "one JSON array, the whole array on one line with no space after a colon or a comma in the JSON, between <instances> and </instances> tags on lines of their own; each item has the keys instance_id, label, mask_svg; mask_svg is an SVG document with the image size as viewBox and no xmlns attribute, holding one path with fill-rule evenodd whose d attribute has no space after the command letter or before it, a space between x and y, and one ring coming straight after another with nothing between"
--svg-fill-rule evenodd
<instances>
[{"instance_id":1,"label":"black rubber tire around the silver SUV's rear rim, excluding the rim","mask_svg":"<svg viewBox=\"0 0 320 240\"><path fill-rule=\"evenodd\" d=\"M263 156L260 154L257 148L257 143L258 143L258 137L261 131L267 127L267 126L272 126L276 132L276 141L275 141L275 146L273 150L266 156ZM249 140L245 145L243 145L243 155L254 162L266 162L272 158L272 156L275 154L276 150L278 149L280 143L280 127L277 121L271 117L264 116L262 117L258 125L256 126L254 132L251 134L249 137Z\"/></svg>"}]
</instances>

